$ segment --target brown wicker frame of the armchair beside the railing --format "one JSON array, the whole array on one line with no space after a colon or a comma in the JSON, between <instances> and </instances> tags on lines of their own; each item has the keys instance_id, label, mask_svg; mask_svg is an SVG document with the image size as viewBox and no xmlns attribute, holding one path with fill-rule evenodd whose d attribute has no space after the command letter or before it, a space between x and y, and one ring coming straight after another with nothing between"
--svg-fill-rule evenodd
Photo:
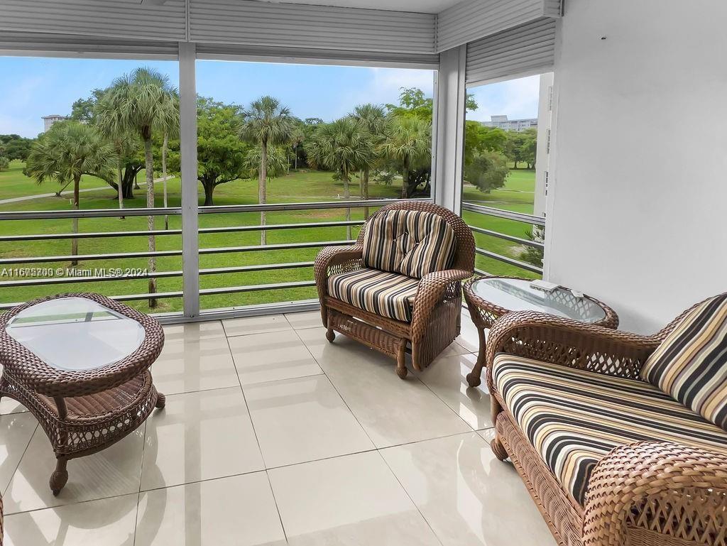
<instances>
[{"instance_id":1,"label":"brown wicker frame of the armchair beside the railing","mask_svg":"<svg viewBox=\"0 0 727 546\"><path fill-rule=\"evenodd\" d=\"M340 273L364 269L366 229L379 214L390 211L419 211L437 214L454 231L454 254L445 270L417 279L411 320L403 321L361 306L351 305L329 294L329 280ZM462 219L441 206L421 201L390 204L367 220L356 244L326 247L316 257L315 276L321 300L321 319L333 342L334 331L345 334L396 360L396 373L406 377L405 354L411 348L411 363L420 371L428 366L459 335L462 307L461 281L473 274L475 241ZM402 281L411 278L401 276Z\"/></svg>"}]
</instances>

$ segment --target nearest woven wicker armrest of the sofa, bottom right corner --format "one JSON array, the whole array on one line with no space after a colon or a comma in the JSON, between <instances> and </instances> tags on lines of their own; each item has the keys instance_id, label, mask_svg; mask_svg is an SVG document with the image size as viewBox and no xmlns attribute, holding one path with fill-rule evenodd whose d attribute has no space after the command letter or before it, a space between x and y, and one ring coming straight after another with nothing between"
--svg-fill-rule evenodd
<instances>
[{"instance_id":1,"label":"nearest woven wicker armrest of the sofa, bottom right corner","mask_svg":"<svg viewBox=\"0 0 727 546\"><path fill-rule=\"evenodd\" d=\"M619 446L591 475L583 545L630 544L630 528L675 544L725 544L726 506L727 454L671 442Z\"/></svg>"}]
</instances>

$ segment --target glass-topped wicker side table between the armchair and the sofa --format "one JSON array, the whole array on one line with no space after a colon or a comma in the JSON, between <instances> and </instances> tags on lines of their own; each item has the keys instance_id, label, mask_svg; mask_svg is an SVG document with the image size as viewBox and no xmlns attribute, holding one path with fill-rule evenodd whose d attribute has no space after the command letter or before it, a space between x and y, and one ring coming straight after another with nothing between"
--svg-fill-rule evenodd
<instances>
[{"instance_id":1,"label":"glass-topped wicker side table between the armchair and the sofa","mask_svg":"<svg viewBox=\"0 0 727 546\"><path fill-rule=\"evenodd\" d=\"M586 295L576 296L563 286L553 292L543 292L530 286L531 281L529 278L483 276L470 278L463 286L467 308L480 337L477 364L467 374L470 387L481 383L486 353L484 330L506 313L540 311L611 329L619 326L616 312L605 303Z\"/></svg>"}]
</instances>

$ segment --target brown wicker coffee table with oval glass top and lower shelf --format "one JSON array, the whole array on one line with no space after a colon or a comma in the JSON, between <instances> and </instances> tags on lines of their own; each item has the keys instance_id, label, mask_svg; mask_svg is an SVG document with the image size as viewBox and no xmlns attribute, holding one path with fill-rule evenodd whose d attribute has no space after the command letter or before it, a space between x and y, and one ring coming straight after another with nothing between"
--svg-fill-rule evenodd
<instances>
[{"instance_id":1,"label":"brown wicker coffee table with oval glass top and lower shelf","mask_svg":"<svg viewBox=\"0 0 727 546\"><path fill-rule=\"evenodd\" d=\"M53 494L69 459L111 446L164 407L148 370L163 345L156 320L98 294L44 297L0 316L0 397L27 407L48 435Z\"/></svg>"}]
</instances>

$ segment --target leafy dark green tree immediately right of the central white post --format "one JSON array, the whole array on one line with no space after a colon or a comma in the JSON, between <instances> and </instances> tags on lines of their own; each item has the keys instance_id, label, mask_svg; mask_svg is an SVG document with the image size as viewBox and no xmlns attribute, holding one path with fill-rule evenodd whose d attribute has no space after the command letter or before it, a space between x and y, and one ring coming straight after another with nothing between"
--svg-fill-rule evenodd
<instances>
[{"instance_id":1,"label":"leafy dark green tree immediately right of the central white post","mask_svg":"<svg viewBox=\"0 0 727 546\"><path fill-rule=\"evenodd\" d=\"M214 188L243 176L249 146L238 138L240 126L238 105L197 100L197 179L204 188L205 206L214 204Z\"/></svg>"}]
</instances>

